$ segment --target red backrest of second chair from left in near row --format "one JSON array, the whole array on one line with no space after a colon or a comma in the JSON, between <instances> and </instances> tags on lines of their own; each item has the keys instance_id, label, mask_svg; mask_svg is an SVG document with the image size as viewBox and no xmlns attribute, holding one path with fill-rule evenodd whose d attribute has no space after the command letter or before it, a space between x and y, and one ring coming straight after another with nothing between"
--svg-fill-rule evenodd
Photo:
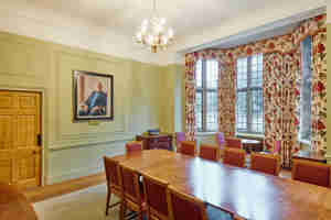
<instances>
[{"instance_id":1,"label":"red backrest of second chair from left in near row","mask_svg":"<svg viewBox=\"0 0 331 220\"><path fill-rule=\"evenodd\" d=\"M126 167L120 167L120 176L122 179L124 199L129 199L131 202L141 204L141 190L139 187L139 175L136 170Z\"/></svg>"}]
</instances>

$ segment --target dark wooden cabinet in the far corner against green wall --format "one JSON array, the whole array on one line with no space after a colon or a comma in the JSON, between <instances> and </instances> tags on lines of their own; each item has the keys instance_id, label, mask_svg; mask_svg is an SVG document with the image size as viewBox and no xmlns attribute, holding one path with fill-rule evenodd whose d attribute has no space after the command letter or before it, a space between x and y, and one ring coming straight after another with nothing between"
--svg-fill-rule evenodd
<instances>
[{"instance_id":1,"label":"dark wooden cabinet in the far corner against green wall","mask_svg":"<svg viewBox=\"0 0 331 220\"><path fill-rule=\"evenodd\" d=\"M142 141L143 150L163 148L172 151L172 134L161 133L158 135L142 134L136 138L137 141Z\"/></svg>"}]
</instances>

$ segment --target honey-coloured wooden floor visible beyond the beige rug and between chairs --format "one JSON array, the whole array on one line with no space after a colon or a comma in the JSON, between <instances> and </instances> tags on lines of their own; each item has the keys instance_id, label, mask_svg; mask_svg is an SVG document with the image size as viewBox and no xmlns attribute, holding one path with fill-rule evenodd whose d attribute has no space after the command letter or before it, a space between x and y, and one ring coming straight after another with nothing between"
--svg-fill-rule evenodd
<instances>
[{"instance_id":1,"label":"honey-coloured wooden floor visible beyond the beige rug and between chairs","mask_svg":"<svg viewBox=\"0 0 331 220\"><path fill-rule=\"evenodd\" d=\"M279 176L282 178L291 178L291 172L288 169L281 169ZM24 191L24 195L26 196L29 201L38 202L52 197L71 194L73 191L77 191L90 186L96 186L103 183L106 183L105 174L96 174L63 182L60 184L49 185L45 187L28 189Z\"/></svg>"}]
</instances>

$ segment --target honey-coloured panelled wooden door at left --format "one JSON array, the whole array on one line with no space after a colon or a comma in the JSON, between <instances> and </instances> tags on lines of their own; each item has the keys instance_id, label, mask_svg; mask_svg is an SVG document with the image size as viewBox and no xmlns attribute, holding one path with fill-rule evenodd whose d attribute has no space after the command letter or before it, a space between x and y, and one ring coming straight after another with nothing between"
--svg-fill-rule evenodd
<instances>
[{"instance_id":1,"label":"honey-coloured panelled wooden door at left","mask_svg":"<svg viewBox=\"0 0 331 220\"><path fill-rule=\"evenodd\" d=\"M41 95L0 90L0 182L41 184Z\"/></svg>"}]
</instances>

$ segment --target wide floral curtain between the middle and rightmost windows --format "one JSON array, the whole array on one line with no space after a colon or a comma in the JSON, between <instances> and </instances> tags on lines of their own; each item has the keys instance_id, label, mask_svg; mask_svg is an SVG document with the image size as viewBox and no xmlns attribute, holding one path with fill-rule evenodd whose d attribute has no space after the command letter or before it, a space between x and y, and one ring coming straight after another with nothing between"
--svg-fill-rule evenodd
<instances>
[{"instance_id":1,"label":"wide floral curtain between the middle and rightmost windows","mask_svg":"<svg viewBox=\"0 0 331 220\"><path fill-rule=\"evenodd\" d=\"M265 144L273 150L281 141L284 166L290 166L291 155L298 150L297 118L300 92L300 53L267 53L264 55Z\"/></svg>"}]
</instances>

